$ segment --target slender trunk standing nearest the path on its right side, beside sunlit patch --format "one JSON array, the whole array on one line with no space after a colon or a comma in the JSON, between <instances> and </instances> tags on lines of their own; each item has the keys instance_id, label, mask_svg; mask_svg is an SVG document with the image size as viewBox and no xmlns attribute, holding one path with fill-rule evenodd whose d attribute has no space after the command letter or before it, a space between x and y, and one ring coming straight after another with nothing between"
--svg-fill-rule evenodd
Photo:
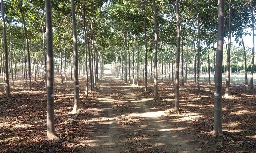
<instances>
[{"instance_id":1,"label":"slender trunk standing nearest the path on its right side, beside sunlit patch","mask_svg":"<svg viewBox=\"0 0 256 153\"><path fill-rule=\"evenodd\" d=\"M176 74L175 74L175 111L179 111L180 91L179 91L179 67L180 67L180 15L179 15L179 0L176 0L176 18L177 18L177 53L176 53Z\"/></svg>"}]
</instances>

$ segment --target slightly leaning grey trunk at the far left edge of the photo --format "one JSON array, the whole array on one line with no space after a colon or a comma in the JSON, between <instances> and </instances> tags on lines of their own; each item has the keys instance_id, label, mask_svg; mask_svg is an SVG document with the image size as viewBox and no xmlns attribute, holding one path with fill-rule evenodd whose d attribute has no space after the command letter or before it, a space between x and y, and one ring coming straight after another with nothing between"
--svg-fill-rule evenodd
<instances>
[{"instance_id":1,"label":"slightly leaning grey trunk at the far left edge of the photo","mask_svg":"<svg viewBox=\"0 0 256 153\"><path fill-rule=\"evenodd\" d=\"M5 27L5 17L4 17L4 3L1 0L1 13L2 13L2 26L3 26L3 45L4 45L4 79L5 79L5 95L10 98L10 83L9 83L9 70L8 70L8 49L7 49L7 38L6 38L6 27Z\"/></svg>"}]
</instances>

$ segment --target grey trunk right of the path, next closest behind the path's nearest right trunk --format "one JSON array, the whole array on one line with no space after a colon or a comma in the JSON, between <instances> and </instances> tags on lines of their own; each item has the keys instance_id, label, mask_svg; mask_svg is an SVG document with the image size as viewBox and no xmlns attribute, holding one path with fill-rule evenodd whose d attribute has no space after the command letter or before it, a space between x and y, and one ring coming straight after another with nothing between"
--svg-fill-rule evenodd
<instances>
[{"instance_id":1,"label":"grey trunk right of the path, next closest behind the path's nearest right trunk","mask_svg":"<svg viewBox=\"0 0 256 153\"><path fill-rule=\"evenodd\" d=\"M158 76L157 76L157 39L158 39L158 27L157 27L157 15L156 15L156 3L153 0L154 10L154 24L155 24L155 48L154 48L154 98L158 97Z\"/></svg>"}]
</instances>

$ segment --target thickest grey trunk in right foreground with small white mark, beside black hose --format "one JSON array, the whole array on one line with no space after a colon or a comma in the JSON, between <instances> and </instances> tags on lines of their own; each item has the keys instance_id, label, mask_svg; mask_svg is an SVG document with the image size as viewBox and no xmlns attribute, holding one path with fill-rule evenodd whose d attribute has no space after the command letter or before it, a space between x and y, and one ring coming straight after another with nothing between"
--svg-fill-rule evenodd
<instances>
[{"instance_id":1,"label":"thickest grey trunk in right foreground with small white mark, beside black hose","mask_svg":"<svg viewBox=\"0 0 256 153\"><path fill-rule=\"evenodd\" d=\"M216 54L216 76L214 89L214 129L213 135L223 136L222 133L222 60L224 41L224 0L219 0L218 8L218 39Z\"/></svg>"}]
</instances>

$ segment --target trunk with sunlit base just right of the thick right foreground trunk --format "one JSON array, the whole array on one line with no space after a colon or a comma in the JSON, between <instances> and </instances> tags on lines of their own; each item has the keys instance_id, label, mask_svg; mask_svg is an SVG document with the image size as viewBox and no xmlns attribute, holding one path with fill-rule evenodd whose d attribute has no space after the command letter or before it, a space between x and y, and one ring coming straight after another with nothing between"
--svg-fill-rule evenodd
<instances>
[{"instance_id":1,"label":"trunk with sunlit base just right of the thick right foreground trunk","mask_svg":"<svg viewBox=\"0 0 256 153\"><path fill-rule=\"evenodd\" d=\"M231 0L229 0L228 14L228 49L227 49L227 74L226 74L226 90L224 97L230 95L230 49L231 49Z\"/></svg>"}]
</instances>

